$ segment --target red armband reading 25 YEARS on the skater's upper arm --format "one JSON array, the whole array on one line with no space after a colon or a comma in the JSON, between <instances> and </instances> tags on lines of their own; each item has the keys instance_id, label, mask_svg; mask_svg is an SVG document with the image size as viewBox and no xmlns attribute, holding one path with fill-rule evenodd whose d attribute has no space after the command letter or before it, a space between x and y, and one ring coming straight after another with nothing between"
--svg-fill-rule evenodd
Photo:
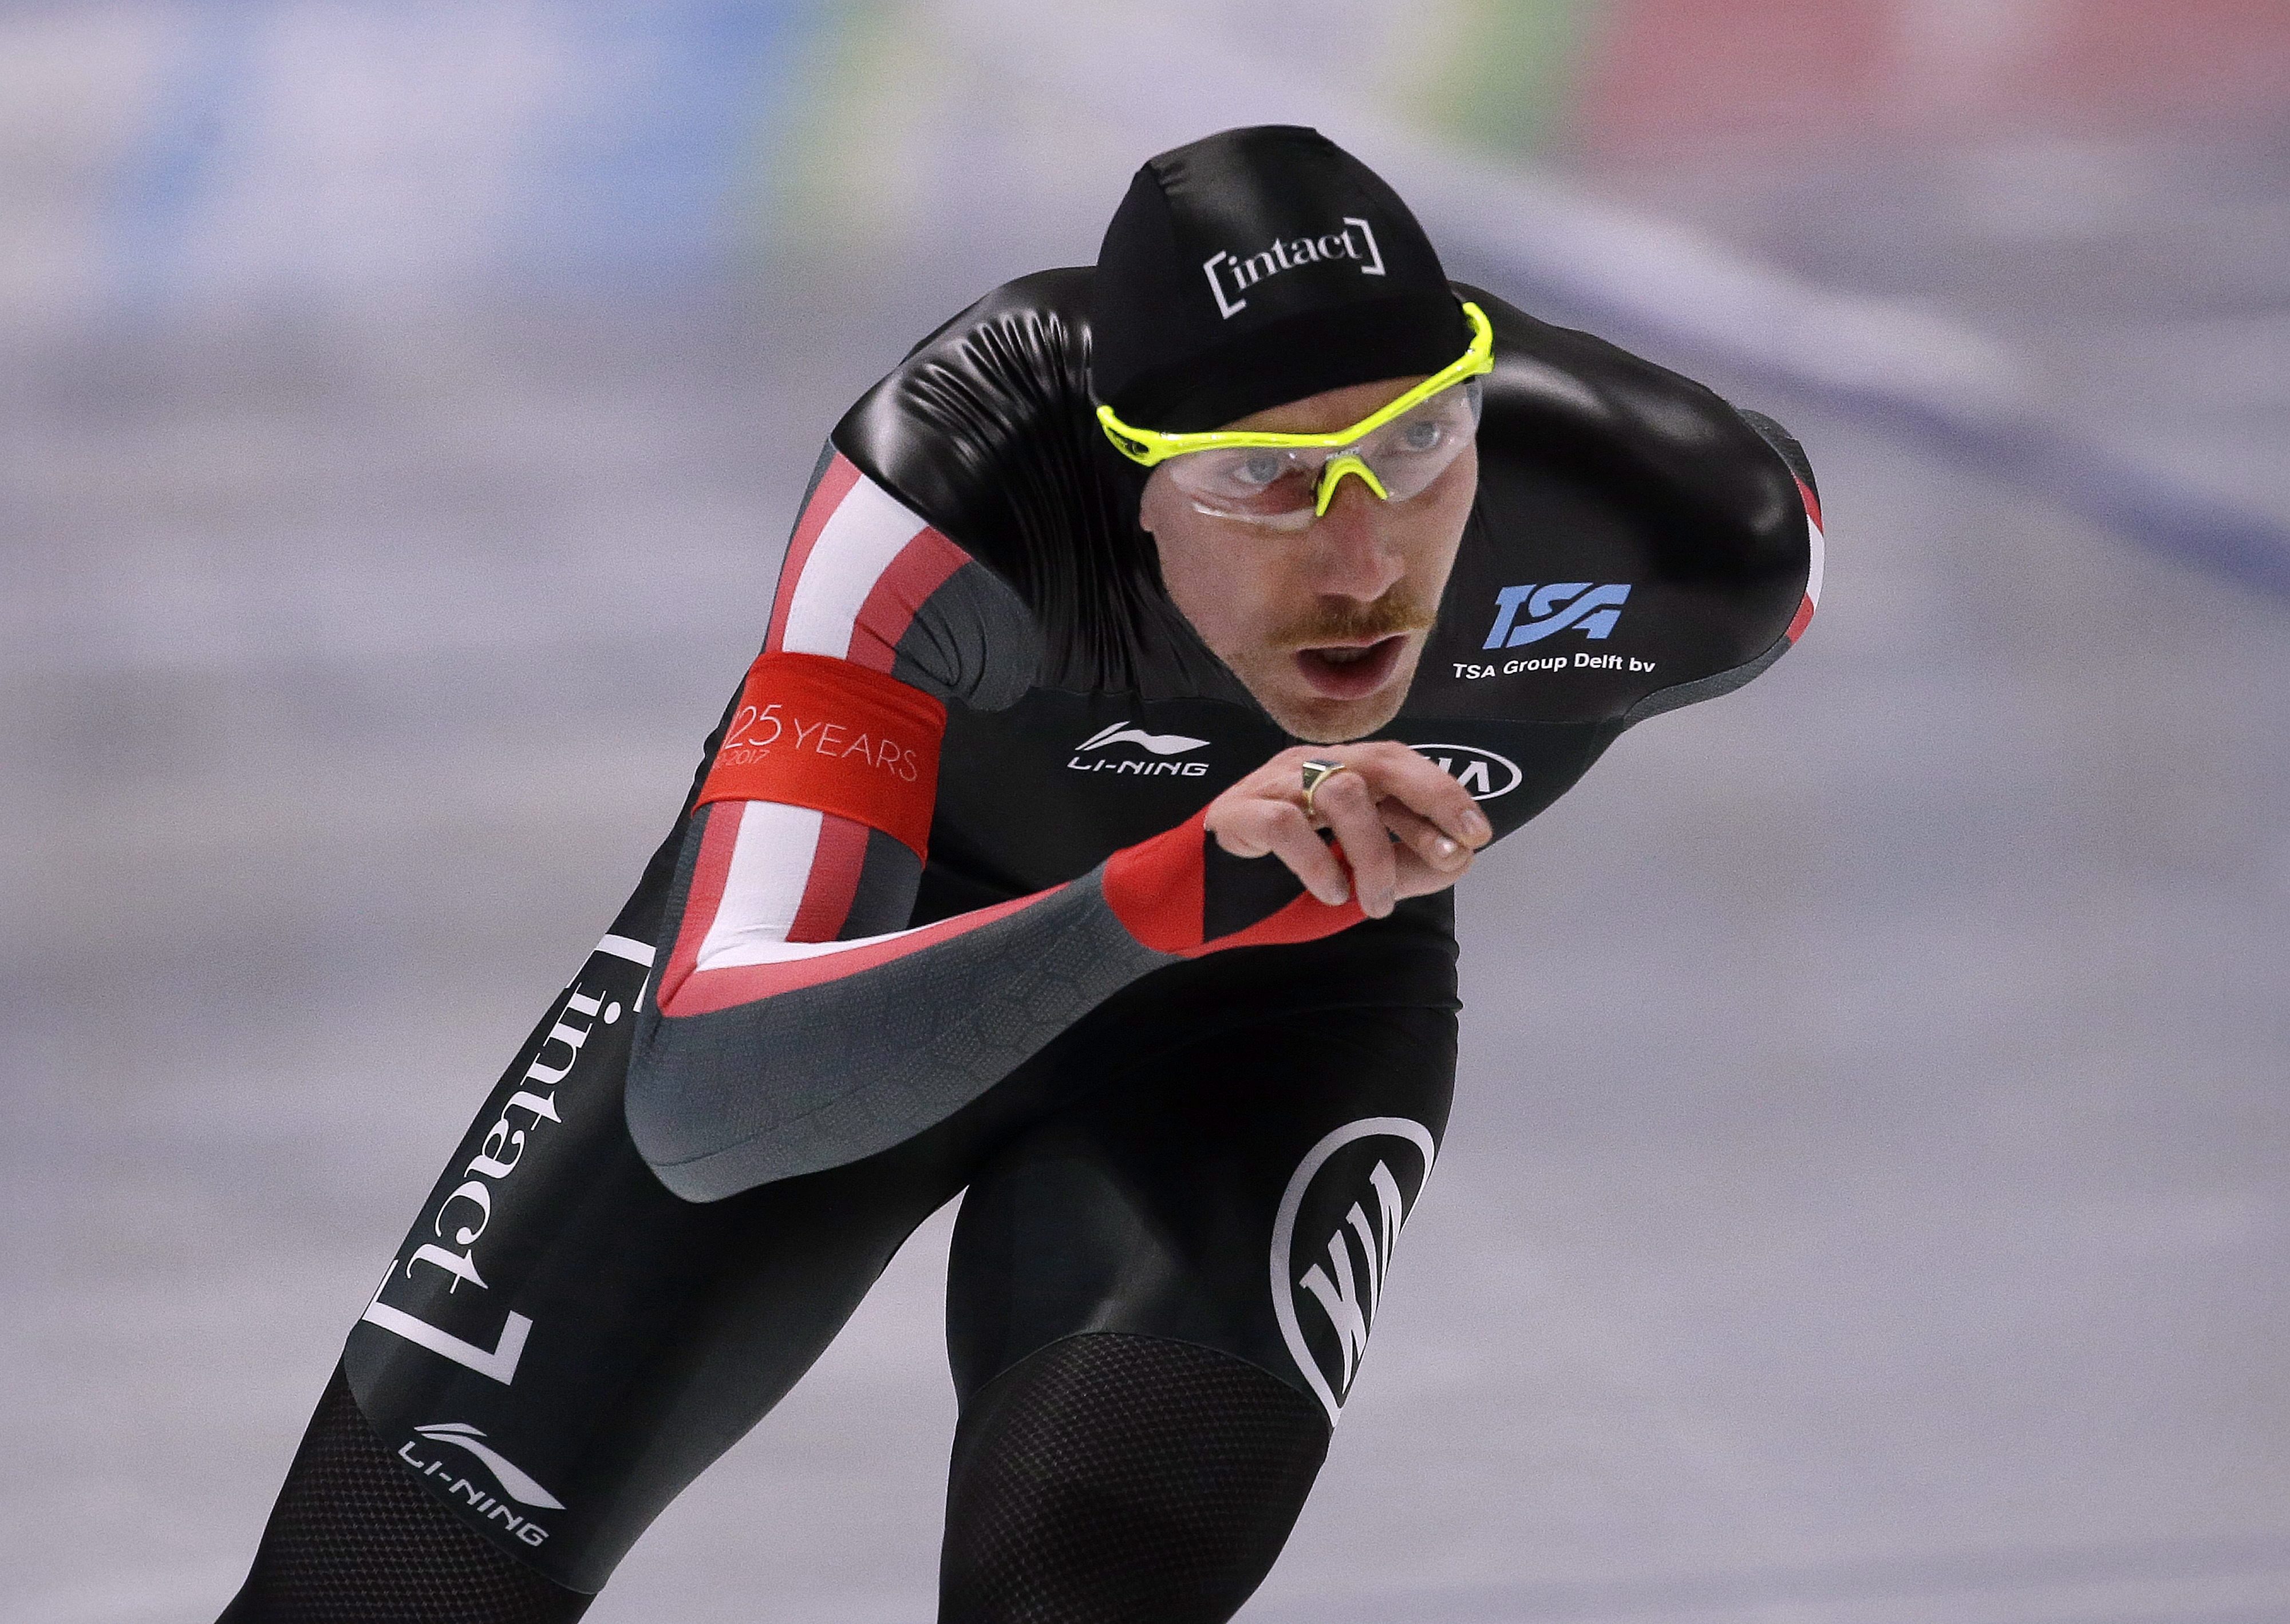
<instances>
[{"instance_id":1,"label":"red armband reading 25 YEARS on the skater's upper arm","mask_svg":"<svg viewBox=\"0 0 2290 1624\"><path fill-rule=\"evenodd\" d=\"M698 804L781 802L882 829L925 857L946 705L827 655L763 655Z\"/></svg>"}]
</instances>

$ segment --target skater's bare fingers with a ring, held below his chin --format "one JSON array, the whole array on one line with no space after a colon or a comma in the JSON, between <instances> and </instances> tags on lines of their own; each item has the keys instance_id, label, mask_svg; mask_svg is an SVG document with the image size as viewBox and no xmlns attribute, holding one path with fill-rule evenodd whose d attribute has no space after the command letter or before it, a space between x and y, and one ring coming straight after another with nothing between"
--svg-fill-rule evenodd
<instances>
[{"instance_id":1,"label":"skater's bare fingers with a ring, held below his chin","mask_svg":"<svg viewBox=\"0 0 2290 1624\"><path fill-rule=\"evenodd\" d=\"M1351 767L1319 781L1317 822L1303 815L1305 760ZM1342 861L1319 827L1335 831ZM1461 783L1390 740L1285 749L1209 802L1207 829L1234 857L1278 857L1330 907L1356 884L1369 919L1383 919L1404 896L1452 886L1495 834Z\"/></svg>"}]
</instances>

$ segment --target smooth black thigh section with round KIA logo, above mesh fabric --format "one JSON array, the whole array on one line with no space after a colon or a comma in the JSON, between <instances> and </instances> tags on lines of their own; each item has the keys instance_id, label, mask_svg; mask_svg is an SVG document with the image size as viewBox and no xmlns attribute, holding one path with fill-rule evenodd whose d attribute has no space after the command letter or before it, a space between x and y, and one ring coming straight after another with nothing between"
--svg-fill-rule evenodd
<instances>
[{"instance_id":1,"label":"smooth black thigh section with round KIA logo, above mesh fabric","mask_svg":"<svg viewBox=\"0 0 2290 1624\"><path fill-rule=\"evenodd\" d=\"M1454 1010L1227 1008L1177 1047L1127 1044L1104 1015L1058 1056L1099 1077L971 1180L948 1276L957 1390L1111 1331L1246 1358L1333 1425L1447 1127Z\"/></svg>"}]
</instances>

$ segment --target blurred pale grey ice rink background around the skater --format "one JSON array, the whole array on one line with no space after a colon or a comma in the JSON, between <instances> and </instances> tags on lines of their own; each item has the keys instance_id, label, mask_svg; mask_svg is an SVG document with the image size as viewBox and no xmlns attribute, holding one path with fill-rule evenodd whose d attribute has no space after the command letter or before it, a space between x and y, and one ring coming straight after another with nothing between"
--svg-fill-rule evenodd
<instances>
[{"instance_id":1,"label":"blurred pale grey ice rink background around the skater","mask_svg":"<svg viewBox=\"0 0 2290 1624\"><path fill-rule=\"evenodd\" d=\"M2290 7L0 9L0 1619L238 1585L845 403L1308 121L1782 417L1827 593L1463 889L1246 1619L2290 1619ZM946 1214L591 1613L930 1617Z\"/></svg>"}]
</instances>

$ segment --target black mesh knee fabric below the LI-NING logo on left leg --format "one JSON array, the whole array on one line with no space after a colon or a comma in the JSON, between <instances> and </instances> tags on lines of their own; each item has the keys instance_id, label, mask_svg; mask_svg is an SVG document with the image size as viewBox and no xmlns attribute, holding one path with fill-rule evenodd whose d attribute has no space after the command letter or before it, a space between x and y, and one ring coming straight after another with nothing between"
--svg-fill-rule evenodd
<instances>
[{"instance_id":1,"label":"black mesh knee fabric below the LI-NING logo on left leg","mask_svg":"<svg viewBox=\"0 0 2290 1624\"><path fill-rule=\"evenodd\" d=\"M570 1624L566 1590L440 1509L334 1367L238 1599L218 1624Z\"/></svg>"}]
</instances>

